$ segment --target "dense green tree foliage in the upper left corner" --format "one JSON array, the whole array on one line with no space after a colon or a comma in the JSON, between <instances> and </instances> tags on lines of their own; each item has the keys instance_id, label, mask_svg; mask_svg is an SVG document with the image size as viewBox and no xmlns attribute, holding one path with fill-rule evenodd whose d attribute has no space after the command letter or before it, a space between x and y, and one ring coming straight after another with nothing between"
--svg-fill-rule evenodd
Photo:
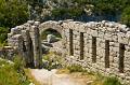
<instances>
[{"instance_id":1,"label":"dense green tree foliage in the upper left corner","mask_svg":"<svg viewBox=\"0 0 130 85\"><path fill-rule=\"evenodd\" d=\"M0 0L0 27L14 27L28 19L26 0Z\"/></svg>"}]
</instances>

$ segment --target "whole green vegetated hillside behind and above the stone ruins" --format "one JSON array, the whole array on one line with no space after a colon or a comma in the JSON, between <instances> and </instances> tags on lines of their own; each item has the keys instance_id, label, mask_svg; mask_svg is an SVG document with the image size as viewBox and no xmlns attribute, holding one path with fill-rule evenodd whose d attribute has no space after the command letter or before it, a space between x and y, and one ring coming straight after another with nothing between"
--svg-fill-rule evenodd
<instances>
[{"instance_id":1,"label":"whole green vegetated hillside behind and above the stone ruins","mask_svg":"<svg viewBox=\"0 0 130 85\"><path fill-rule=\"evenodd\" d=\"M37 8L38 5L40 8ZM32 9L32 12L30 9ZM0 43L5 42L10 28L26 23L30 18L29 16L32 16L31 19L40 17L41 20L76 19L89 22L106 19L130 26L130 1L0 0ZM91 17L94 18L91 19Z\"/></svg>"}]
</instances>

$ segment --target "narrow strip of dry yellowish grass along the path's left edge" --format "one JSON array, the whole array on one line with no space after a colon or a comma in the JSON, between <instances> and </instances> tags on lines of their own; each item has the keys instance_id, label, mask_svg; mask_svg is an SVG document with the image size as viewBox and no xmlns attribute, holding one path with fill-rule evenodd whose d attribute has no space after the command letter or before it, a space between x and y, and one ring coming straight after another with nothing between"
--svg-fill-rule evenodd
<instances>
[{"instance_id":1,"label":"narrow strip of dry yellowish grass along the path's left edge","mask_svg":"<svg viewBox=\"0 0 130 85\"><path fill-rule=\"evenodd\" d=\"M32 82L35 85L41 85L36 79L32 76L30 69L24 69L27 77L29 79L30 82Z\"/></svg>"}]
</instances>

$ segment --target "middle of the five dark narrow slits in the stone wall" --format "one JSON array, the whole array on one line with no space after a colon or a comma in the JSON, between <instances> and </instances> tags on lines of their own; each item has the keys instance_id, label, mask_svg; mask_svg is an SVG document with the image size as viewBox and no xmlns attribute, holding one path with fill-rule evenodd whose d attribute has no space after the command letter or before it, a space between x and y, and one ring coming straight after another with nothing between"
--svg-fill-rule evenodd
<instances>
[{"instance_id":1,"label":"middle of the five dark narrow slits in the stone wall","mask_svg":"<svg viewBox=\"0 0 130 85\"><path fill-rule=\"evenodd\" d=\"M92 62L96 62L96 38L92 37Z\"/></svg>"}]
</instances>

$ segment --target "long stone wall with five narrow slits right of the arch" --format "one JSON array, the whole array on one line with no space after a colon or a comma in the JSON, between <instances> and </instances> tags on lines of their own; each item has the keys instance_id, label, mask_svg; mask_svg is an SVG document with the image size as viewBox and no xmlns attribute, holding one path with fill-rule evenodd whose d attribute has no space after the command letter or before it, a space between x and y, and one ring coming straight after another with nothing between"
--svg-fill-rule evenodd
<instances>
[{"instance_id":1,"label":"long stone wall with five narrow slits right of the arch","mask_svg":"<svg viewBox=\"0 0 130 85\"><path fill-rule=\"evenodd\" d=\"M130 28L105 20L68 22L62 26L66 63L130 82Z\"/></svg>"}]
</instances>

